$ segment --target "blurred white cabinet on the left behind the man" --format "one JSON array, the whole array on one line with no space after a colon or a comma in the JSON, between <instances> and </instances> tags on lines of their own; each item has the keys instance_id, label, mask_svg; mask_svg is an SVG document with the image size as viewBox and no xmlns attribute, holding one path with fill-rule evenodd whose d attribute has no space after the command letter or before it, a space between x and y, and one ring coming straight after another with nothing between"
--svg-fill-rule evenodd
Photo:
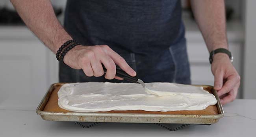
<instances>
[{"instance_id":1,"label":"blurred white cabinet on the left behind the man","mask_svg":"<svg viewBox=\"0 0 256 137\"><path fill-rule=\"evenodd\" d=\"M0 108L34 110L58 80L52 59L54 55L25 27L1 28Z\"/></svg>"}]
</instances>

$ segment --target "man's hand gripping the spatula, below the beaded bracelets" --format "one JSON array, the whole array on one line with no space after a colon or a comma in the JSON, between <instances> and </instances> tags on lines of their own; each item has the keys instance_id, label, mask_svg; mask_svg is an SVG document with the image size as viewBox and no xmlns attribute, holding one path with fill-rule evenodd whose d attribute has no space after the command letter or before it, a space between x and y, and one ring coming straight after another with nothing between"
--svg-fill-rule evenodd
<instances>
[{"instance_id":1,"label":"man's hand gripping the spatula, below the beaded bracelets","mask_svg":"<svg viewBox=\"0 0 256 137\"><path fill-rule=\"evenodd\" d=\"M67 52L63 61L71 68L83 69L85 75L89 77L102 76L104 74L102 64L107 68L106 79L121 79L115 76L115 64L119 65L130 76L136 76L136 72L126 63L124 58L108 47L108 45L77 45Z\"/></svg>"}]
</instances>

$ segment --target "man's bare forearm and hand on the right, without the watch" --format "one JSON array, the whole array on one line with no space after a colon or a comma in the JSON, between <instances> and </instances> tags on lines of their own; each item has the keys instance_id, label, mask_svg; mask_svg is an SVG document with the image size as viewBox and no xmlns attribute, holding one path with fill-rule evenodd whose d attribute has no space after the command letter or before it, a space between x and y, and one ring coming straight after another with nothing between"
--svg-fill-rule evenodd
<instances>
[{"instance_id":1,"label":"man's bare forearm and hand on the right, without the watch","mask_svg":"<svg viewBox=\"0 0 256 137\"><path fill-rule=\"evenodd\" d=\"M191 7L208 51L228 49L224 0L191 0ZM233 101L240 85L240 76L226 54L214 55L211 72L221 103Z\"/></svg>"}]
</instances>

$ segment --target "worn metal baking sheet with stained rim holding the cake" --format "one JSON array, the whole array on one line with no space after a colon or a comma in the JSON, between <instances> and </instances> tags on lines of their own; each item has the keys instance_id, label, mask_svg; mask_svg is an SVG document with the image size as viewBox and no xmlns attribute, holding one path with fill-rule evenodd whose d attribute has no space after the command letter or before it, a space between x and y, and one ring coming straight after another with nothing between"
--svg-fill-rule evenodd
<instances>
[{"instance_id":1,"label":"worn metal baking sheet with stained rim holding the cake","mask_svg":"<svg viewBox=\"0 0 256 137\"><path fill-rule=\"evenodd\" d=\"M212 94L217 99L217 114L203 114L198 111L183 111L182 114L178 112L147 112L141 110L134 111L111 111L111 112L70 112L64 110L54 110L51 112L45 110L45 107L53 92L64 83L55 83L51 85L46 92L41 103L37 107L37 114L48 121L83 121L83 122L124 122L124 123L187 123L187 124L213 124L217 123L221 117L224 116L223 108L217 96L217 92L213 90L212 86L202 86L206 90L211 90ZM58 105L57 105L58 106ZM181 112L181 111L180 111ZM184 113L186 112L186 113ZM193 112L193 113L192 113ZM198 112L198 113L197 113Z\"/></svg>"}]
</instances>

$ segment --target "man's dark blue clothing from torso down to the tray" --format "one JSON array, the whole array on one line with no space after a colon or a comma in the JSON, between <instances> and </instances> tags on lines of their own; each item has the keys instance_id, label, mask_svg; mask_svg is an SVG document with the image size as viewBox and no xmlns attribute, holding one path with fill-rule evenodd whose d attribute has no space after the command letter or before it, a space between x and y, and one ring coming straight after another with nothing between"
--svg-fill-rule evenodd
<instances>
[{"instance_id":1,"label":"man's dark blue clothing from torso down to the tray","mask_svg":"<svg viewBox=\"0 0 256 137\"><path fill-rule=\"evenodd\" d=\"M190 84L180 0L68 0L64 27L82 45L108 45L145 82ZM60 82L110 81L59 63Z\"/></svg>"}]
</instances>

